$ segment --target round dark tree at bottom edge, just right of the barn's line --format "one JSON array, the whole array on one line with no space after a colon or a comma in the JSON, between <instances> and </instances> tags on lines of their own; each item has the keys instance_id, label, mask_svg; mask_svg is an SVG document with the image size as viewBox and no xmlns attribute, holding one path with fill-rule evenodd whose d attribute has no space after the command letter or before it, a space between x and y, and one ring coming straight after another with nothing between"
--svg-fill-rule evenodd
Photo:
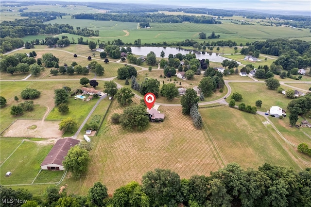
<instances>
[{"instance_id":1,"label":"round dark tree at bottom edge, just right of the barn's line","mask_svg":"<svg viewBox=\"0 0 311 207\"><path fill-rule=\"evenodd\" d=\"M94 186L88 190L88 198L91 204L98 207L104 207L104 200L108 198L106 186L100 182L94 183Z\"/></svg>"}]
</instances>

